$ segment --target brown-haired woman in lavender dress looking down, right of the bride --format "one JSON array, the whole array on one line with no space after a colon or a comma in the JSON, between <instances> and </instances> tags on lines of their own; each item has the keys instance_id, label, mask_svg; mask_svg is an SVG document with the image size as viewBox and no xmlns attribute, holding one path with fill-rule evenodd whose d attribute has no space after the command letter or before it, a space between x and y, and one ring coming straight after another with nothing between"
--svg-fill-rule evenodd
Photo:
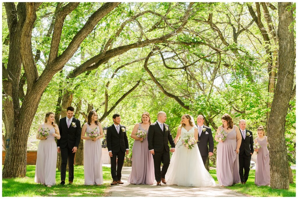
<instances>
[{"instance_id":1,"label":"brown-haired woman in lavender dress looking down, right of the bride","mask_svg":"<svg viewBox=\"0 0 298 199\"><path fill-rule=\"evenodd\" d=\"M216 155L216 176L220 186L227 187L240 183L239 175L239 148L241 145L241 133L238 126L233 124L232 117L225 113L221 117L223 125L218 127L216 133L222 129L227 133L225 141L218 141Z\"/></svg>"}]
</instances>

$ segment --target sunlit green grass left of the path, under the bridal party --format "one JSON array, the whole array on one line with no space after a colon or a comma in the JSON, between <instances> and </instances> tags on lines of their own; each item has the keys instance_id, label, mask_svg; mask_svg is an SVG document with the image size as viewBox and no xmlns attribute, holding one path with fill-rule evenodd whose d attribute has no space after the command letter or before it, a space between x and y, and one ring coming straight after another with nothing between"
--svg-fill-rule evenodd
<instances>
[{"instance_id":1,"label":"sunlit green grass left of the path, under the bridal party","mask_svg":"<svg viewBox=\"0 0 298 199\"><path fill-rule=\"evenodd\" d=\"M57 196L57 197L101 197L108 196L108 190L112 181L111 169L103 167L103 185L86 186L84 184L84 166L75 166L75 179L72 185L66 182L60 185L60 171L56 171L57 185L46 187L34 182L35 165L27 165L25 178L2 179L2 197L34 197L34 196ZM68 179L68 172L66 172Z\"/></svg>"}]
</instances>

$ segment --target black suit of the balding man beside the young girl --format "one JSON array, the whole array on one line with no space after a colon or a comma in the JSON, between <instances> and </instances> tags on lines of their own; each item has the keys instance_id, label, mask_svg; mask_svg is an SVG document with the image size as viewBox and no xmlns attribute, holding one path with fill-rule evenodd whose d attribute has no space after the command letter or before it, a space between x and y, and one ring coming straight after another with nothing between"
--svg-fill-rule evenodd
<instances>
[{"instance_id":1,"label":"black suit of the balding man beside the young girl","mask_svg":"<svg viewBox=\"0 0 298 199\"><path fill-rule=\"evenodd\" d=\"M245 136L245 140L243 139L242 130L239 128L242 141L239 148L239 174L241 182L246 182L249 175L250 170L250 160L252 159L252 155L250 153L254 153L254 139L252 137L252 132L246 129L246 133L249 133L250 136ZM246 134L245 133L245 134ZM244 168L244 175L243 175Z\"/></svg>"}]
</instances>

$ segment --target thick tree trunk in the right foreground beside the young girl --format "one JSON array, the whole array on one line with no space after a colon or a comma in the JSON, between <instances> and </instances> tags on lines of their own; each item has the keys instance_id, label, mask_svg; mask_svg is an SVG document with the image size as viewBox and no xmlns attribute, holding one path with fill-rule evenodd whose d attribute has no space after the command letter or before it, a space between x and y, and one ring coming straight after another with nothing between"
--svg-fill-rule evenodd
<instances>
[{"instance_id":1,"label":"thick tree trunk in the right foreground beside the young girl","mask_svg":"<svg viewBox=\"0 0 298 199\"><path fill-rule=\"evenodd\" d=\"M289 189L287 148L285 145L285 117L294 83L295 46L294 33L289 31L293 11L292 3L278 3L279 67L278 79L268 122L270 144L270 186L272 189Z\"/></svg>"}]
</instances>

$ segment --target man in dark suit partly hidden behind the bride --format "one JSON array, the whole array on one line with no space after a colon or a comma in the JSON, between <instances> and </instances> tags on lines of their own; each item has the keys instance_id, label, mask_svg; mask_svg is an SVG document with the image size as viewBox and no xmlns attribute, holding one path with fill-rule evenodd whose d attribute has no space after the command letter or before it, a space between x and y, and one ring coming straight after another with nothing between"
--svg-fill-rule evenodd
<instances>
[{"instance_id":1,"label":"man in dark suit partly hidden behind the bride","mask_svg":"<svg viewBox=\"0 0 298 199\"><path fill-rule=\"evenodd\" d=\"M204 125L204 116L199 115L197 117L197 127L198 127L198 147L201 153L204 165L206 165L207 157L213 155L214 143L211 128ZM209 144L209 150L208 150Z\"/></svg>"}]
</instances>

